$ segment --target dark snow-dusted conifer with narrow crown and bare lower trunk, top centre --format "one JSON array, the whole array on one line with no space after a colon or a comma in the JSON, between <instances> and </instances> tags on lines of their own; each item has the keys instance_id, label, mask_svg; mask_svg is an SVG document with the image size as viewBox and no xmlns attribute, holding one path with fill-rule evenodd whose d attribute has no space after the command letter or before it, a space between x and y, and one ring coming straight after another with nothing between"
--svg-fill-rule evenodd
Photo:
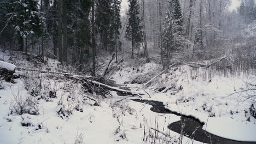
<instances>
[{"instance_id":1,"label":"dark snow-dusted conifer with narrow crown and bare lower trunk, top centre","mask_svg":"<svg viewBox=\"0 0 256 144\"><path fill-rule=\"evenodd\" d=\"M139 46L142 41L142 25L139 19L138 0L129 0L128 21L126 25L125 38L132 42L132 58L134 58L133 50Z\"/></svg>"}]
</instances>

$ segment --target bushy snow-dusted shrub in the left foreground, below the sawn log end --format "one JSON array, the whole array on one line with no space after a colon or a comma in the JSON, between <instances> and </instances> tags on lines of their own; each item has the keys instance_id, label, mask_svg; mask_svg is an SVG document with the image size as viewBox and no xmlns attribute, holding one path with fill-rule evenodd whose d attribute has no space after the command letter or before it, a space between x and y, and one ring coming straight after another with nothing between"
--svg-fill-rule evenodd
<instances>
[{"instance_id":1,"label":"bushy snow-dusted shrub in the left foreground, below the sawn log end","mask_svg":"<svg viewBox=\"0 0 256 144\"><path fill-rule=\"evenodd\" d=\"M10 106L10 113L16 113L22 115L23 113L29 113L30 115L39 115L38 104L35 102L31 96L24 96L18 94L13 94L13 101Z\"/></svg>"}]
</instances>

